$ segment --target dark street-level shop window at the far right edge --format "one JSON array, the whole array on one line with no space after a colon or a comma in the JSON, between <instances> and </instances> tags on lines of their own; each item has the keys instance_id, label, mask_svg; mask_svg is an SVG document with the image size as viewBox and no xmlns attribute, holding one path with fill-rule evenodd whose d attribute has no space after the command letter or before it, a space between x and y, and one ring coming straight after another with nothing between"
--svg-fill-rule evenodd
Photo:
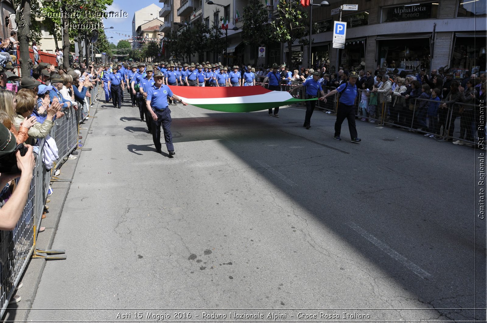
<instances>
[{"instance_id":1,"label":"dark street-level shop window at the far right edge","mask_svg":"<svg viewBox=\"0 0 487 323\"><path fill-rule=\"evenodd\" d=\"M485 37L456 37L450 68L455 77L464 77L465 72L486 71Z\"/></svg>"}]
</instances>

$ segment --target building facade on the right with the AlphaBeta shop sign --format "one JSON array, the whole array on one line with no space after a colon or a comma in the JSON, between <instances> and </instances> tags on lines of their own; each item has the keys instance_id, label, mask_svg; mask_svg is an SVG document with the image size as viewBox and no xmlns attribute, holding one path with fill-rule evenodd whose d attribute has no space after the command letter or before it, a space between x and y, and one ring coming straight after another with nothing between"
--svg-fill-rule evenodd
<instances>
[{"instance_id":1,"label":"building facade on the right with the AlphaBeta shop sign","mask_svg":"<svg viewBox=\"0 0 487 323\"><path fill-rule=\"evenodd\" d=\"M330 0L330 7L313 9L312 65L335 70L365 63L372 71L449 67L459 78L466 71L485 71L486 1L357 0L357 11L341 12L346 43L337 50L332 29L339 14L331 10L349 1ZM303 49L307 63L309 48Z\"/></svg>"}]
</instances>

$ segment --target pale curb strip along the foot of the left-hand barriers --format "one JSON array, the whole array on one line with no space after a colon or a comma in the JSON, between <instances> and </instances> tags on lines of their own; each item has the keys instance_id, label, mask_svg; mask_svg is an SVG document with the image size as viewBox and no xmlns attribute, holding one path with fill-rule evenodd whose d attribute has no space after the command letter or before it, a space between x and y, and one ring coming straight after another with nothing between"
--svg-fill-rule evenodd
<instances>
[{"instance_id":1,"label":"pale curb strip along the foot of the left-hand barriers","mask_svg":"<svg viewBox=\"0 0 487 323\"><path fill-rule=\"evenodd\" d=\"M99 96L99 93L103 92L98 90L96 97ZM90 108L90 115L94 116L102 104L101 101L98 101ZM90 120L91 119L91 120ZM81 127L88 128L87 130L81 130L80 135L83 135L82 144L86 142L86 138L88 137L89 131L91 130L94 118L89 118L85 120L84 124L81 124ZM76 150L76 149L75 149ZM65 171L64 179L71 179L73 180L75 176L75 171L79 162L79 159L82 155L82 150L79 151L77 155L77 159L70 163L67 160L64 162L59 169ZM62 173L61 173L62 174ZM39 248L46 248L51 249L54 243L54 239L56 237L57 227L59 225L59 220L61 218L61 214L64 208L64 203L68 197L69 190L71 188L71 182L53 182L51 187L55 192L61 192L61 195L58 196L59 199L51 198L51 202L49 203L49 213L48 216L42 220L40 226L45 226L46 230L43 233L40 233L37 236L36 245ZM62 192L64 191L64 192ZM52 215L51 215L52 214ZM69 254L67 254L69 257ZM34 261L33 261L34 260ZM23 287L17 291L17 294L20 295L21 300L17 304L9 305L5 311L3 321L0 322L27 322L27 318L29 317L30 310L32 308L32 303L37 294L37 288L39 286L42 274L44 272L44 268L46 266L45 259L33 259L30 258L29 263L27 264L27 268L25 269L20 281L23 282ZM58 260L62 261L62 260ZM1 318L0 318L1 319Z\"/></svg>"}]
</instances>

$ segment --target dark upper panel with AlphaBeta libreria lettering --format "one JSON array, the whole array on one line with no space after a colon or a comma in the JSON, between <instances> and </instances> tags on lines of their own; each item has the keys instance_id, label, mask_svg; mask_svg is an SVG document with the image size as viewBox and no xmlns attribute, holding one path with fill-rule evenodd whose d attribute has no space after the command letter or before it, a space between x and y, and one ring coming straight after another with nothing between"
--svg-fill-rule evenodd
<instances>
[{"instance_id":1,"label":"dark upper panel with AlphaBeta libreria lettering","mask_svg":"<svg viewBox=\"0 0 487 323\"><path fill-rule=\"evenodd\" d=\"M382 18L380 21L391 22L415 19L431 19L436 18L437 14L438 2L414 3L382 8Z\"/></svg>"}]
</instances>

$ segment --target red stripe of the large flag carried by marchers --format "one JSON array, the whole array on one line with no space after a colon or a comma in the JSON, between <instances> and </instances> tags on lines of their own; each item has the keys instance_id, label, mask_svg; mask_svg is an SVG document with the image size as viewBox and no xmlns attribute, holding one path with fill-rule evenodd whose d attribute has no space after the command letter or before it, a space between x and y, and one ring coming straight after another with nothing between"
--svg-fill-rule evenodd
<instances>
[{"instance_id":1,"label":"red stripe of the large flag carried by marchers","mask_svg":"<svg viewBox=\"0 0 487 323\"><path fill-rule=\"evenodd\" d=\"M230 98L270 92L270 90L258 85L250 87L181 87L169 85L169 89L177 96L188 99Z\"/></svg>"}]
</instances>

